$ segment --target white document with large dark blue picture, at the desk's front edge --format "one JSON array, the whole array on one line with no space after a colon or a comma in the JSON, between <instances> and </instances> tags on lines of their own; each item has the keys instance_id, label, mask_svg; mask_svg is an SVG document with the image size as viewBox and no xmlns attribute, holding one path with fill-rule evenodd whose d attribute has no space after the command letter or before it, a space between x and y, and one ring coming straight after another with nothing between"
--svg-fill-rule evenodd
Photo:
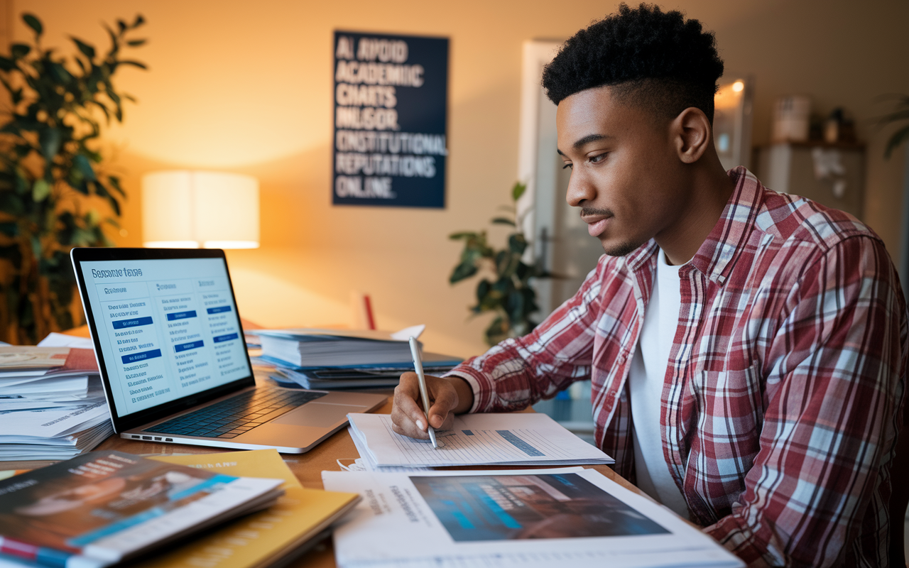
<instances>
[{"instance_id":1,"label":"white document with large dark blue picture, at the desk's front edge","mask_svg":"<svg viewBox=\"0 0 909 568\"><path fill-rule=\"evenodd\" d=\"M594 470L323 472L364 496L335 530L341 568L646 568L744 563Z\"/></svg>"}]
</instances>

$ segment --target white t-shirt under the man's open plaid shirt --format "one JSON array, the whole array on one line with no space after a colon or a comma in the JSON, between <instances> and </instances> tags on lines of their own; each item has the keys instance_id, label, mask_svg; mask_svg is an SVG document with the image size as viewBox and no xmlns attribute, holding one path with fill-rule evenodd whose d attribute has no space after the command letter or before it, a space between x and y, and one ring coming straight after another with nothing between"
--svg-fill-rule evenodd
<instances>
[{"instance_id":1,"label":"white t-shirt under the man's open plaid shirt","mask_svg":"<svg viewBox=\"0 0 909 568\"><path fill-rule=\"evenodd\" d=\"M682 307L681 290L679 267L670 266L661 250L656 261L656 282L644 311L644 327L634 351L628 384L637 486L687 519L688 505L669 473L663 454L660 421L666 367Z\"/></svg>"}]
</instances>

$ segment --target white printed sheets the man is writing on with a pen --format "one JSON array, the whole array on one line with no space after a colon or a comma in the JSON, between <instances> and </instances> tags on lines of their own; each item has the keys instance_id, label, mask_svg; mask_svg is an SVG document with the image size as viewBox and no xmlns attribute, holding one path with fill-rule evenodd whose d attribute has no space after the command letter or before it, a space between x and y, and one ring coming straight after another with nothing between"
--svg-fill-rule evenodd
<instances>
[{"instance_id":1,"label":"white printed sheets the man is writing on with a pen","mask_svg":"<svg viewBox=\"0 0 909 568\"><path fill-rule=\"evenodd\" d=\"M392 430L388 414L347 414L361 457L375 467L443 465L576 465L614 460L546 414L464 414L452 430L435 431L439 448ZM365 452L365 454L364 454Z\"/></svg>"}]
</instances>

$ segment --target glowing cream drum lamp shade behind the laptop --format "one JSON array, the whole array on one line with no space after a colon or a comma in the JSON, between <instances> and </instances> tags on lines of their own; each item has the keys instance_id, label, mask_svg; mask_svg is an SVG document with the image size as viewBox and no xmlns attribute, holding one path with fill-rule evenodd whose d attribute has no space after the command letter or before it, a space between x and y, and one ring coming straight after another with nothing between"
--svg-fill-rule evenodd
<instances>
[{"instance_id":1,"label":"glowing cream drum lamp shade behind the laptop","mask_svg":"<svg viewBox=\"0 0 909 568\"><path fill-rule=\"evenodd\" d=\"M221 172L145 174L142 233L150 247L258 248L259 182Z\"/></svg>"}]
</instances>

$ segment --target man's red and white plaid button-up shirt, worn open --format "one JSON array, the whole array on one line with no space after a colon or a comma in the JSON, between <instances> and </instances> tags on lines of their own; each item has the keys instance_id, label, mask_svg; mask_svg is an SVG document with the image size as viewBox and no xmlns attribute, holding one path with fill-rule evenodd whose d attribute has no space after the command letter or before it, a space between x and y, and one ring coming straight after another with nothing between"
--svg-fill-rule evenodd
<instances>
[{"instance_id":1,"label":"man's red and white plaid button-up shirt, worn open","mask_svg":"<svg viewBox=\"0 0 909 568\"><path fill-rule=\"evenodd\" d=\"M885 566L907 353L893 264L854 217L765 189L742 167L729 175L734 194L680 270L667 467L692 521L745 562ZM603 256L532 334L456 367L471 412L592 379L596 442L634 480L626 377L656 251Z\"/></svg>"}]
</instances>

